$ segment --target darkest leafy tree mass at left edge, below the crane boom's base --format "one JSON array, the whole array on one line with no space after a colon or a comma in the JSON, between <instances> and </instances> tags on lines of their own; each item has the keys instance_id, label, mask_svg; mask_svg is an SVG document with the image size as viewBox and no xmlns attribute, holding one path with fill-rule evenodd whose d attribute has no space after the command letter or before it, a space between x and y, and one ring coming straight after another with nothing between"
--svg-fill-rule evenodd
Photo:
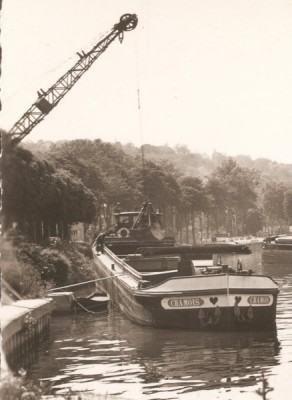
<instances>
[{"instance_id":1,"label":"darkest leafy tree mass at left edge, below the crane boom's base","mask_svg":"<svg viewBox=\"0 0 292 400\"><path fill-rule=\"evenodd\" d=\"M56 170L19 146L5 145L1 158L4 230L13 222L33 241L56 234L68 237L68 224L91 222L92 192L68 171Z\"/></svg>"}]
</instances>

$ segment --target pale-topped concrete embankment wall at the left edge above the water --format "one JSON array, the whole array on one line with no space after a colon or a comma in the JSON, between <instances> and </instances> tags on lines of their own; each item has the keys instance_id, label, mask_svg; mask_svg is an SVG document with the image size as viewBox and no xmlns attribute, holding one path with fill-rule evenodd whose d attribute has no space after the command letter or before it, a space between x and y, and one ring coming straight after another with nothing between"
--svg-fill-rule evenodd
<instances>
[{"instance_id":1,"label":"pale-topped concrete embankment wall at the left edge above the water","mask_svg":"<svg viewBox=\"0 0 292 400\"><path fill-rule=\"evenodd\" d=\"M1 307L2 373L15 369L47 335L52 308L52 299L19 300Z\"/></svg>"}]
</instances>

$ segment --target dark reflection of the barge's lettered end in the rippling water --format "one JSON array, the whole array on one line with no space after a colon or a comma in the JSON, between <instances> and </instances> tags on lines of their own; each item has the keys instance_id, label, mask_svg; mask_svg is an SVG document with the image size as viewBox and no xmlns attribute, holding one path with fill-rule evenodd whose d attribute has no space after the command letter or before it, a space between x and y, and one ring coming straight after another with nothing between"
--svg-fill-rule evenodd
<instances>
[{"instance_id":1,"label":"dark reflection of the barge's lettered end in the rippling water","mask_svg":"<svg viewBox=\"0 0 292 400\"><path fill-rule=\"evenodd\" d=\"M236 334L133 329L128 343L137 349L145 383L185 390L250 385L259 368L275 365L279 345L275 333ZM157 385L156 385L157 386ZM152 386L152 391L155 390ZM145 393L149 394L150 386Z\"/></svg>"}]
</instances>

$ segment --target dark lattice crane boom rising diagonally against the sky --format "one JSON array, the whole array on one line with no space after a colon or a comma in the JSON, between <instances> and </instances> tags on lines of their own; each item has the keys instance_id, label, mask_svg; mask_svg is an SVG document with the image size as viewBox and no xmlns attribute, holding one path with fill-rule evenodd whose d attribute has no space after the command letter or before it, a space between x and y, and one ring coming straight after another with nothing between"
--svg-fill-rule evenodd
<instances>
[{"instance_id":1,"label":"dark lattice crane boom rising diagonally against the sky","mask_svg":"<svg viewBox=\"0 0 292 400\"><path fill-rule=\"evenodd\" d=\"M19 143L30 131L40 123L47 114L69 92L81 76L90 68L93 62L119 37L123 40L124 31L136 28L138 18L136 14L124 14L119 23L115 24L111 32L98 42L89 52L77 53L79 60L48 90L38 91L37 101L23 114L8 132L11 141Z\"/></svg>"}]
</instances>

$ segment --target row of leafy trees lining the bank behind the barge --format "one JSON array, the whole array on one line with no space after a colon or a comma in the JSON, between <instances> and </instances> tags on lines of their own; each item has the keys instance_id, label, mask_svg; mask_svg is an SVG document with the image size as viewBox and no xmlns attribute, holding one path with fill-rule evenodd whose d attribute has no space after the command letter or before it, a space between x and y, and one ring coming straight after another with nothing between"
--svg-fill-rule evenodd
<instances>
[{"instance_id":1,"label":"row of leafy trees lining the bank behind the barge","mask_svg":"<svg viewBox=\"0 0 292 400\"><path fill-rule=\"evenodd\" d=\"M129 210L151 201L163 210L169 233L189 243L223 231L284 231L292 221L291 186L265 184L258 172L232 159L202 179L165 160L142 165L136 154L100 140L65 142L41 157L6 147L1 160L5 226L17 222L34 241L57 234L66 238L74 222L95 223L98 229L110 225L118 202Z\"/></svg>"}]
</instances>

